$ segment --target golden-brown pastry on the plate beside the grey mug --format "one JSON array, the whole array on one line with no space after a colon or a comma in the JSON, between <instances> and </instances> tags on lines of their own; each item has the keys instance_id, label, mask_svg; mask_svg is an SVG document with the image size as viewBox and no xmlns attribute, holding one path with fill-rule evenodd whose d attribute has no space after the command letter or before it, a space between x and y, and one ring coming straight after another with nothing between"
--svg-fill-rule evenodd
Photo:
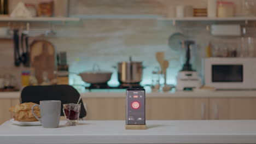
<instances>
[{"instance_id":1,"label":"golden-brown pastry on the plate beside the grey mug","mask_svg":"<svg viewBox=\"0 0 256 144\"><path fill-rule=\"evenodd\" d=\"M35 103L23 103L10 107L9 111L14 113L14 121L19 122L36 122L38 119L32 113L32 106ZM34 113L40 118L40 109L38 106L34 107Z\"/></svg>"}]
</instances>

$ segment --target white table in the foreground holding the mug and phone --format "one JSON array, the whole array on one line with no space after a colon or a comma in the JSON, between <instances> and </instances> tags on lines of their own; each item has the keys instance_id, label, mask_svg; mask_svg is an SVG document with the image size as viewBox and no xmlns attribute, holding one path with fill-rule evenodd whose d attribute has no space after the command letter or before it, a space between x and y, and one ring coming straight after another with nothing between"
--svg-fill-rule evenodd
<instances>
[{"instance_id":1,"label":"white table in the foreground holding the mug and phone","mask_svg":"<svg viewBox=\"0 0 256 144\"><path fill-rule=\"evenodd\" d=\"M125 130L125 121L83 121L45 129L0 125L0 143L256 143L256 121L147 121L147 130Z\"/></svg>"}]
</instances>

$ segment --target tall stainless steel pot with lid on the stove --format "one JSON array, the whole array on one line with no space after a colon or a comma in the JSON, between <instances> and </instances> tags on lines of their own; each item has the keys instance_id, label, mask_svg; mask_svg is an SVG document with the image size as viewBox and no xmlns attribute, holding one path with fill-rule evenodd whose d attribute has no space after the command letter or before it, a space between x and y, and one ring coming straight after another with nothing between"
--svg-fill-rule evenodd
<instances>
[{"instance_id":1,"label":"tall stainless steel pot with lid on the stove","mask_svg":"<svg viewBox=\"0 0 256 144\"><path fill-rule=\"evenodd\" d=\"M118 81L120 83L139 83L142 81L142 62L130 61L118 63Z\"/></svg>"}]
</instances>

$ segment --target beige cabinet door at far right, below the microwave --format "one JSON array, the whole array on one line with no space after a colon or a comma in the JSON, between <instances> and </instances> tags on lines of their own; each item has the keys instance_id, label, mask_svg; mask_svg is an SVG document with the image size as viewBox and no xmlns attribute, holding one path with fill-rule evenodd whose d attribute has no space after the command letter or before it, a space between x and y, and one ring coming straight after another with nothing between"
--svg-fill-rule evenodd
<instances>
[{"instance_id":1,"label":"beige cabinet door at far right, below the microwave","mask_svg":"<svg viewBox=\"0 0 256 144\"><path fill-rule=\"evenodd\" d=\"M256 98L210 98L210 119L256 119Z\"/></svg>"}]
</instances>

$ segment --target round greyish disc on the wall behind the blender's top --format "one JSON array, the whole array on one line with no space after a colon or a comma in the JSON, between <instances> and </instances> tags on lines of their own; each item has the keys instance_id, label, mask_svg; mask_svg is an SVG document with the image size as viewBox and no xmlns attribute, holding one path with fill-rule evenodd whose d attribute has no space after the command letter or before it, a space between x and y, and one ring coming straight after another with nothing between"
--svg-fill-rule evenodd
<instances>
[{"instance_id":1,"label":"round greyish disc on the wall behind the blender's top","mask_svg":"<svg viewBox=\"0 0 256 144\"><path fill-rule=\"evenodd\" d=\"M180 32L173 33L168 39L168 45L175 53L180 53L180 41L187 39L187 36Z\"/></svg>"}]
</instances>

